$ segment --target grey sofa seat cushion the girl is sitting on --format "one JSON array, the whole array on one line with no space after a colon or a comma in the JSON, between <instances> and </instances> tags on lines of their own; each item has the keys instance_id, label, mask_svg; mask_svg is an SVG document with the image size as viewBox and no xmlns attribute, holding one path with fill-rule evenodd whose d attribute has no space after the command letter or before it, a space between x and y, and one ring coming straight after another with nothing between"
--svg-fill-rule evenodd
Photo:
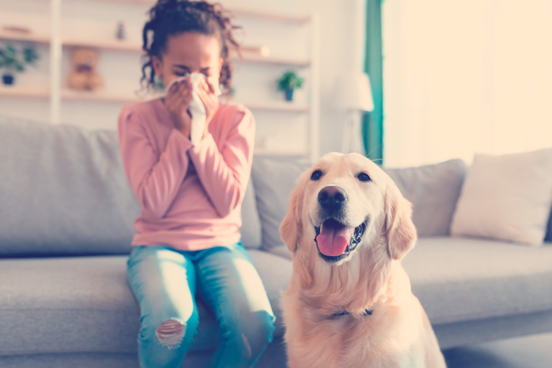
<instances>
[{"instance_id":1,"label":"grey sofa seat cushion the girl is sitting on","mask_svg":"<svg viewBox=\"0 0 552 368\"><path fill-rule=\"evenodd\" d=\"M284 334L279 298L291 262L265 251L249 254L276 315L275 338ZM0 260L0 356L75 351L137 352L139 307L121 255ZM213 349L220 331L201 302L192 350ZM24 342L24 343L23 343Z\"/></svg>"}]
</instances>

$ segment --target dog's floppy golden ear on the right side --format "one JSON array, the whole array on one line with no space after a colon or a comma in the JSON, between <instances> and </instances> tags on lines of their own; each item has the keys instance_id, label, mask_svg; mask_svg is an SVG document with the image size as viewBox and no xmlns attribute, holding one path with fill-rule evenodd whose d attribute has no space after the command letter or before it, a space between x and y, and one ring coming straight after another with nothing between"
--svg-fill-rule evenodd
<instances>
[{"instance_id":1,"label":"dog's floppy golden ear on the right side","mask_svg":"<svg viewBox=\"0 0 552 368\"><path fill-rule=\"evenodd\" d=\"M416 227L412 222L412 204L402 196L394 182L389 182L384 206L387 251L393 260L400 260L417 240Z\"/></svg>"}]
</instances>

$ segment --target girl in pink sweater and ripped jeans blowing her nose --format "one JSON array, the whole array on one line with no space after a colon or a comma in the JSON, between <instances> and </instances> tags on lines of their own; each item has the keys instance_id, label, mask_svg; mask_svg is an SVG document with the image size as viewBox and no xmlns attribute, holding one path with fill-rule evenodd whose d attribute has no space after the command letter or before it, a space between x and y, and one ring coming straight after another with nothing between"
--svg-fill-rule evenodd
<instances>
[{"instance_id":1,"label":"girl in pink sweater and ripped jeans blowing her nose","mask_svg":"<svg viewBox=\"0 0 552 368\"><path fill-rule=\"evenodd\" d=\"M218 99L219 86L230 90L232 30L220 6L159 0L144 26L142 81L169 88L119 115L141 208L128 259L141 367L182 367L199 325L197 300L220 326L212 367L253 367L272 340L275 316L239 233L255 120Z\"/></svg>"}]
</instances>

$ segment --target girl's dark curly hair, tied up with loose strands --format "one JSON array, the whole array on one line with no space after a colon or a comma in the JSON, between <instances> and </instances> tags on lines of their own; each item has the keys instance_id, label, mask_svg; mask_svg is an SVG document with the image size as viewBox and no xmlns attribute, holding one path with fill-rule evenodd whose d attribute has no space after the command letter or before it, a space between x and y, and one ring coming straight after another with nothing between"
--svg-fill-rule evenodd
<instances>
[{"instance_id":1,"label":"girl's dark curly hair, tied up with loose strands","mask_svg":"<svg viewBox=\"0 0 552 368\"><path fill-rule=\"evenodd\" d=\"M158 0L149 10L149 21L144 25L142 50L142 78L144 88L155 88L155 72L152 57L161 58L169 36L182 32L199 32L203 35L215 36L220 45L220 56L224 59L219 76L219 83L226 92L230 91L233 65L230 61L230 48L239 52L239 43L233 36L233 30L241 28L234 26L226 10L219 3L210 4L206 1L188 0Z\"/></svg>"}]
</instances>

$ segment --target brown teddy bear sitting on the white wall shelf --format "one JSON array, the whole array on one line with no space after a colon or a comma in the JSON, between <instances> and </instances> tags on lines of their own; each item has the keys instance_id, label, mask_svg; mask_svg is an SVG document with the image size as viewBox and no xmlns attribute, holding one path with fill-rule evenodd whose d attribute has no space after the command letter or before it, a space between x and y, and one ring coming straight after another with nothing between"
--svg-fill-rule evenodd
<instances>
[{"instance_id":1,"label":"brown teddy bear sitting on the white wall shelf","mask_svg":"<svg viewBox=\"0 0 552 368\"><path fill-rule=\"evenodd\" d=\"M95 50L77 48L72 50L71 59L73 70L67 77L70 88L95 91L103 86L103 79L95 70L99 59Z\"/></svg>"}]
</instances>

